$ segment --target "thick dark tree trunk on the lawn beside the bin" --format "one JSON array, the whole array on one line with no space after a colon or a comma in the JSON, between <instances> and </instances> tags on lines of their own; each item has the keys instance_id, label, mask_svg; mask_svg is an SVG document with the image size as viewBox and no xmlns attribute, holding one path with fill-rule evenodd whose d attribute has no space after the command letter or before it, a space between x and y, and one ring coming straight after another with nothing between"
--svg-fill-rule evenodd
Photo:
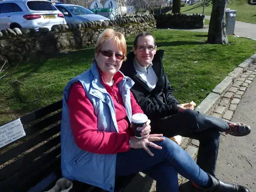
<instances>
[{"instance_id":1,"label":"thick dark tree trunk on the lawn beside the bin","mask_svg":"<svg viewBox=\"0 0 256 192\"><path fill-rule=\"evenodd\" d=\"M208 44L228 44L226 34L226 0L213 0L208 31Z\"/></svg>"}]
</instances>

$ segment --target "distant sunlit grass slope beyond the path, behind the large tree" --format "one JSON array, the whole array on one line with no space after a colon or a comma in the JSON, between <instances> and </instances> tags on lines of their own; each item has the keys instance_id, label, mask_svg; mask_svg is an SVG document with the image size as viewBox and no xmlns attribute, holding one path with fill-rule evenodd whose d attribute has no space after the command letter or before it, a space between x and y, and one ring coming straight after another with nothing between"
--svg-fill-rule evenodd
<instances>
[{"instance_id":1,"label":"distant sunlit grass slope beyond the path, behind the large tree","mask_svg":"<svg viewBox=\"0 0 256 192\"><path fill-rule=\"evenodd\" d=\"M237 10L237 17L236 19L240 22L246 22L251 24L256 24L256 6L255 5L248 5L246 0L229 0L229 4L227 7L229 9ZM212 6L207 6L204 9L205 15L211 14ZM203 6L202 1L191 6L185 6L181 8L182 13L203 13Z\"/></svg>"}]
</instances>

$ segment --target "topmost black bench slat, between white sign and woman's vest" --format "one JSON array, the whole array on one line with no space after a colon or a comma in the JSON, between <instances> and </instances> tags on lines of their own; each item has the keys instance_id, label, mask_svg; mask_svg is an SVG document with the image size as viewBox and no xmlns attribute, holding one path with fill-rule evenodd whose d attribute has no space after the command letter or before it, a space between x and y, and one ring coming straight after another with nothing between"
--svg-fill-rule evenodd
<instances>
[{"instance_id":1,"label":"topmost black bench slat, between white sign and woman's vest","mask_svg":"<svg viewBox=\"0 0 256 192\"><path fill-rule=\"evenodd\" d=\"M23 117L20 118L20 120L24 123L24 124L27 124L27 123L30 123L32 121L35 121L37 119L40 119L54 111L57 111L59 109L62 108L62 100L60 101L57 101L53 104L50 104L48 106L45 106L44 108L40 108L36 111L33 111L32 113L28 114L28 115L25 115Z\"/></svg>"}]
</instances>

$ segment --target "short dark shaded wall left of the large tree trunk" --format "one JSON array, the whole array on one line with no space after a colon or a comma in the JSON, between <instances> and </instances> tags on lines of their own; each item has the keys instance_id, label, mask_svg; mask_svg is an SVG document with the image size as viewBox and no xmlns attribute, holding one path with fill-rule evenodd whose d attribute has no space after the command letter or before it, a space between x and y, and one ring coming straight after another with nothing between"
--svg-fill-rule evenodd
<instances>
[{"instance_id":1,"label":"short dark shaded wall left of the large tree trunk","mask_svg":"<svg viewBox=\"0 0 256 192\"><path fill-rule=\"evenodd\" d=\"M204 27L204 15L161 14L155 15L157 28L160 29L201 29Z\"/></svg>"}]
</instances>

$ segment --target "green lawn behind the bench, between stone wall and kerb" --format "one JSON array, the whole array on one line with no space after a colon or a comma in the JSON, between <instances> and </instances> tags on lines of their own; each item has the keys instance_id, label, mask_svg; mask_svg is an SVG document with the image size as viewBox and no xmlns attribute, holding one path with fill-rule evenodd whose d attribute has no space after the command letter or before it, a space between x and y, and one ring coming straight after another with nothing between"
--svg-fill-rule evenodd
<instances>
[{"instance_id":1,"label":"green lawn behind the bench, between stone wall and kerb","mask_svg":"<svg viewBox=\"0 0 256 192\"><path fill-rule=\"evenodd\" d=\"M229 36L231 45L225 46L205 44L206 33L161 29L153 34L157 49L165 51L165 72L181 102L194 100L199 104L256 50L255 41L246 38ZM128 51L133 40L134 36L127 38ZM9 68L8 76L0 82L0 124L60 100L66 83L90 68L93 55L94 49L88 48Z\"/></svg>"}]
</instances>

